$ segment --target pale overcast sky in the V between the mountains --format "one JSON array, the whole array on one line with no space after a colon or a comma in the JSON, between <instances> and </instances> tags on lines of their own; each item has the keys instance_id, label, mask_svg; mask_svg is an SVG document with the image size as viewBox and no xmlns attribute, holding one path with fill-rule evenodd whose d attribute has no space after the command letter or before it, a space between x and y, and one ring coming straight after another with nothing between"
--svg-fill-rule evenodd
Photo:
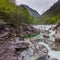
<instances>
[{"instance_id":1,"label":"pale overcast sky in the V between the mountains","mask_svg":"<svg viewBox=\"0 0 60 60\"><path fill-rule=\"evenodd\" d=\"M48 10L58 0L16 0L17 5L25 4L36 10L40 15Z\"/></svg>"}]
</instances>

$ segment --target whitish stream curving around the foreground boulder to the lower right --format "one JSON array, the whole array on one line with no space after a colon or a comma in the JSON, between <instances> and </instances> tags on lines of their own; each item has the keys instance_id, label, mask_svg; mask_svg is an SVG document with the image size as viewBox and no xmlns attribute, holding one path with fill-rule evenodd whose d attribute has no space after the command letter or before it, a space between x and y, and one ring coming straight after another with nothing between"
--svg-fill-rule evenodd
<instances>
[{"instance_id":1,"label":"whitish stream curving around the foreground boulder to the lower right","mask_svg":"<svg viewBox=\"0 0 60 60\"><path fill-rule=\"evenodd\" d=\"M49 50L48 55L50 55L51 58L57 58L58 60L60 60L60 51L51 50L51 48L44 42L40 42L39 44L43 44L47 47L47 49Z\"/></svg>"}]
</instances>

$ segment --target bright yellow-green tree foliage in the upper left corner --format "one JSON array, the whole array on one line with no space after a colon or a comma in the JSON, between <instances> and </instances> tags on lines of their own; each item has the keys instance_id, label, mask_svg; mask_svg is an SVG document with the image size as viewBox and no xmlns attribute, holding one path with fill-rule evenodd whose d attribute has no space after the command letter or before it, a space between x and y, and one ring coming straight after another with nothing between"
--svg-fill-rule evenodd
<instances>
[{"instance_id":1,"label":"bright yellow-green tree foliage in the upper left corner","mask_svg":"<svg viewBox=\"0 0 60 60\"><path fill-rule=\"evenodd\" d=\"M9 0L0 0L0 10L6 13L14 11L15 5Z\"/></svg>"}]
</instances>

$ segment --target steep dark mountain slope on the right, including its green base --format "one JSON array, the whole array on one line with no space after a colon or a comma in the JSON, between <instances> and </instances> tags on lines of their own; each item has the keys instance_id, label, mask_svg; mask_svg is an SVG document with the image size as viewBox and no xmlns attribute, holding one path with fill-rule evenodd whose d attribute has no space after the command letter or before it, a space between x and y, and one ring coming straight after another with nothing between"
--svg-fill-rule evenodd
<instances>
[{"instance_id":1,"label":"steep dark mountain slope on the right, including its green base","mask_svg":"<svg viewBox=\"0 0 60 60\"><path fill-rule=\"evenodd\" d=\"M60 0L40 16L42 24L56 24L60 19Z\"/></svg>"}]
</instances>

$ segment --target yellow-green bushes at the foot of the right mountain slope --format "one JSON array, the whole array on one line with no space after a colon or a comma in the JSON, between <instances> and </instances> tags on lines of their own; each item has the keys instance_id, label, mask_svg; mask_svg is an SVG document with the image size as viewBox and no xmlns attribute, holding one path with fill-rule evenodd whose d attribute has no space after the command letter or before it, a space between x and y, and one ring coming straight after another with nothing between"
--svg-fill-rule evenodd
<instances>
[{"instance_id":1,"label":"yellow-green bushes at the foot of the right mountain slope","mask_svg":"<svg viewBox=\"0 0 60 60\"><path fill-rule=\"evenodd\" d=\"M41 24L56 24L60 19L60 15L43 15L43 17L40 17L39 21Z\"/></svg>"}]
</instances>

